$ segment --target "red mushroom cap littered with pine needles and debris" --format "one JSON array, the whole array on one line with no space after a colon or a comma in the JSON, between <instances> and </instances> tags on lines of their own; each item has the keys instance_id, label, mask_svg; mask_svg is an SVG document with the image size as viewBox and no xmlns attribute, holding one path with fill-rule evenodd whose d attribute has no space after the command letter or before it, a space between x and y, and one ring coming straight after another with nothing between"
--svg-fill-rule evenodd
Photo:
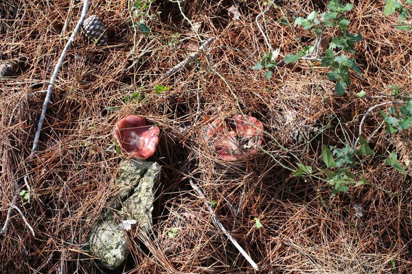
<instances>
[{"instance_id":1,"label":"red mushroom cap littered with pine needles and debris","mask_svg":"<svg viewBox=\"0 0 412 274\"><path fill-rule=\"evenodd\" d=\"M263 124L255 117L236 115L229 121L216 119L209 124L206 134L222 160L237 161L259 151Z\"/></svg>"}]
</instances>

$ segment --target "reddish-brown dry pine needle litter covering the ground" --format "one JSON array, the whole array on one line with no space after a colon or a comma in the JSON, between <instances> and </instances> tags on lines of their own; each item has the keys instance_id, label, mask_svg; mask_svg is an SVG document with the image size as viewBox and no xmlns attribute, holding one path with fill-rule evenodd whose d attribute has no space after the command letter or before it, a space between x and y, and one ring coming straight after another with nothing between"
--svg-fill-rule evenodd
<instances>
[{"instance_id":1,"label":"reddish-brown dry pine needle litter covering the ground","mask_svg":"<svg viewBox=\"0 0 412 274\"><path fill-rule=\"evenodd\" d=\"M399 101L390 85L411 95L412 32L394 27L396 13L383 15L384 0L342 1L354 5L345 14L350 32L363 36L350 56L363 77L350 71L352 86L338 96L319 62L279 64L269 80L251 69L268 46L279 49L279 61L313 45L314 35L293 22L326 8L270 2L91 1L88 15L102 18L107 45L77 34L30 161L45 90L83 2L1 1L0 62L13 66L0 77L1 273L108 273L83 249L84 229L117 192L122 157L112 133L128 114L161 128L149 160L162 174L154 233L130 230L130 256L110 273L411 273L411 177L384 162L396 152L410 174L411 132L386 134L382 116L368 110L382 104L387 113L387 102ZM336 32L326 28L323 38ZM367 112L361 132L376 155L352 168L367 184L331 198L322 145L354 145ZM214 119L238 114L262 121L262 149L225 162L205 132ZM297 163L313 176L294 176Z\"/></svg>"}]
</instances>

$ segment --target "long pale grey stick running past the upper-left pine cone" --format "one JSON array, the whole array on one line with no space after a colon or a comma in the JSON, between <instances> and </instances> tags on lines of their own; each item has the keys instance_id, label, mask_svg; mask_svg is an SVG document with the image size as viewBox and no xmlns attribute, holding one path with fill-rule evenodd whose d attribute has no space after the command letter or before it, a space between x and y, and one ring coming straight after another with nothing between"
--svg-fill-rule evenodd
<instances>
[{"instance_id":1,"label":"long pale grey stick running past the upper-left pine cone","mask_svg":"<svg viewBox=\"0 0 412 274\"><path fill-rule=\"evenodd\" d=\"M46 95L45 101L43 103L43 108L41 109L40 118L38 119L36 134L34 134L32 153L30 153L29 160L32 160L33 157L34 157L34 154L36 153L36 149L37 149L37 145L38 145L38 139L40 138L41 129L43 127L43 122L45 121L47 106L49 105L50 97L52 97L52 90L53 90L53 87L54 87L54 83L56 82L58 71L60 70L60 67L63 64L63 60L65 60L67 51L69 50L69 47L71 46L71 43L74 41L74 38L76 38L76 35L78 34L78 32L80 30L80 27L82 27L84 18L87 16L87 11L88 10L89 10L89 0L84 0L82 15L80 16L80 19L79 19L76 27L74 28L73 33L71 34L69 40L67 40L65 48L62 50L62 53L60 54L60 58L58 59L58 62L56 64L56 66L54 67L53 75L52 75L52 78L50 78L49 87L47 88L47 95Z\"/></svg>"}]
</instances>

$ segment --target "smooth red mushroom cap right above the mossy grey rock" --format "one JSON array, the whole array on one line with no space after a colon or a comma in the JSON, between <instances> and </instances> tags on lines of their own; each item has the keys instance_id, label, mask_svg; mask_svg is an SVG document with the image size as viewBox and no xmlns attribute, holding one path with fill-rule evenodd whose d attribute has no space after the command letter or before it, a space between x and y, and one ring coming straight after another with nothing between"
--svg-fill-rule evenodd
<instances>
[{"instance_id":1,"label":"smooth red mushroom cap right above the mossy grey rock","mask_svg":"<svg viewBox=\"0 0 412 274\"><path fill-rule=\"evenodd\" d=\"M147 159L155 153L159 132L159 127L148 123L146 118L129 115L117 121L114 136L123 153Z\"/></svg>"}]
</instances>

